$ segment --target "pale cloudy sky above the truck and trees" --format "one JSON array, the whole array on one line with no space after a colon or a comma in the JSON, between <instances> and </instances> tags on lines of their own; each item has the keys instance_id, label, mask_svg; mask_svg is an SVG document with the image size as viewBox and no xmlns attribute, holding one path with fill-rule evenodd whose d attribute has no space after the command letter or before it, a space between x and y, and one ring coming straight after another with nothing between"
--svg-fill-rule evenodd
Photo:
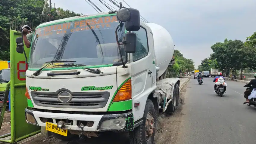
<instances>
[{"instance_id":1,"label":"pale cloudy sky above the truck and trees","mask_svg":"<svg viewBox=\"0 0 256 144\"><path fill-rule=\"evenodd\" d=\"M91 1L102 11L109 11L98 0ZM111 4L108 0L104 1ZM123 0L116 1L128 7ZM225 38L245 41L256 31L256 0L124 1L138 9L150 23L167 29L175 49L194 60L195 68L213 53L211 46L216 42L223 42ZM72 3L70 0L52 0L52 4L76 13L97 13L85 0L72 0Z\"/></svg>"}]
</instances>

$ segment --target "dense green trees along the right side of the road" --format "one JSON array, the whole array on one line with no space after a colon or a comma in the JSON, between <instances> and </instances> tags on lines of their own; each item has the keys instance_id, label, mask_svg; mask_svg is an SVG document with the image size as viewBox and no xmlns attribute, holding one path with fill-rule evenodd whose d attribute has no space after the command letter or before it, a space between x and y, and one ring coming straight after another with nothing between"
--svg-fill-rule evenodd
<instances>
[{"instance_id":1,"label":"dense green trees along the right side of the road","mask_svg":"<svg viewBox=\"0 0 256 144\"><path fill-rule=\"evenodd\" d=\"M234 69L235 74L236 70L240 69L240 78L242 78L242 72L245 68L256 68L256 47L250 42L244 43L240 40L228 39L217 42L211 46L214 51L210 56L211 61L209 61L210 58L202 60L198 68L209 69L214 66L227 75L231 73L232 69Z\"/></svg>"}]
</instances>

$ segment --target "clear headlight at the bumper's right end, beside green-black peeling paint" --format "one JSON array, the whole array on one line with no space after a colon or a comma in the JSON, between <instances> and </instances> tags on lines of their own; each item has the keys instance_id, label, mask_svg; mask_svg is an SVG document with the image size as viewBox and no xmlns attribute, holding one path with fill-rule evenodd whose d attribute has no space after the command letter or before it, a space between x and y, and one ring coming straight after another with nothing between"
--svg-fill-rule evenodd
<instances>
[{"instance_id":1,"label":"clear headlight at the bumper's right end, beside green-black peeling paint","mask_svg":"<svg viewBox=\"0 0 256 144\"><path fill-rule=\"evenodd\" d=\"M100 130L120 130L125 127L125 118L115 118L103 121L99 126Z\"/></svg>"}]
</instances>

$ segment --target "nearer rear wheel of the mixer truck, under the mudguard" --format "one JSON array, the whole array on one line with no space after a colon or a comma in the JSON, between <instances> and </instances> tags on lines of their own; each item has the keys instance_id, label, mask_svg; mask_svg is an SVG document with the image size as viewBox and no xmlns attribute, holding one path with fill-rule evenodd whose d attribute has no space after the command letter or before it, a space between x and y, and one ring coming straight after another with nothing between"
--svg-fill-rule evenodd
<instances>
[{"instance_id":1,"label":"nearer rear wheel of the mixer truck, under the mudguard","mask_svg":"<svg viewBox=\"0 0 256 144\"><path fill-rule=\"evenodd\" d=\"M177 106L180 103L180 90L179 85L175 84L173 89L173 99L167 106L167 112L172 113L175 112Z\"/></svg>"}]
</instances>

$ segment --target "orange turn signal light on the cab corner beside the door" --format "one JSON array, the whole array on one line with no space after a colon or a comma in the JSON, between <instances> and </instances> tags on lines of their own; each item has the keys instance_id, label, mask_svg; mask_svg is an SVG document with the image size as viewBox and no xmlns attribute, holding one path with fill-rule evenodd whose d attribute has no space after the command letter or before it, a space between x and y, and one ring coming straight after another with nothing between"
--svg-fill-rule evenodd
<instances>
[{"instance_id":1,"label":"orange turn signal light on the cab corner beside the door","mask_svg":"<svg viewBox=\"0 0 256 144\"><path fill-rule=\"evenodd\" d=\"M132 99L132 80L126 81L118 90L113 102L120 102Z\"/></svg>"}]
</instances>

